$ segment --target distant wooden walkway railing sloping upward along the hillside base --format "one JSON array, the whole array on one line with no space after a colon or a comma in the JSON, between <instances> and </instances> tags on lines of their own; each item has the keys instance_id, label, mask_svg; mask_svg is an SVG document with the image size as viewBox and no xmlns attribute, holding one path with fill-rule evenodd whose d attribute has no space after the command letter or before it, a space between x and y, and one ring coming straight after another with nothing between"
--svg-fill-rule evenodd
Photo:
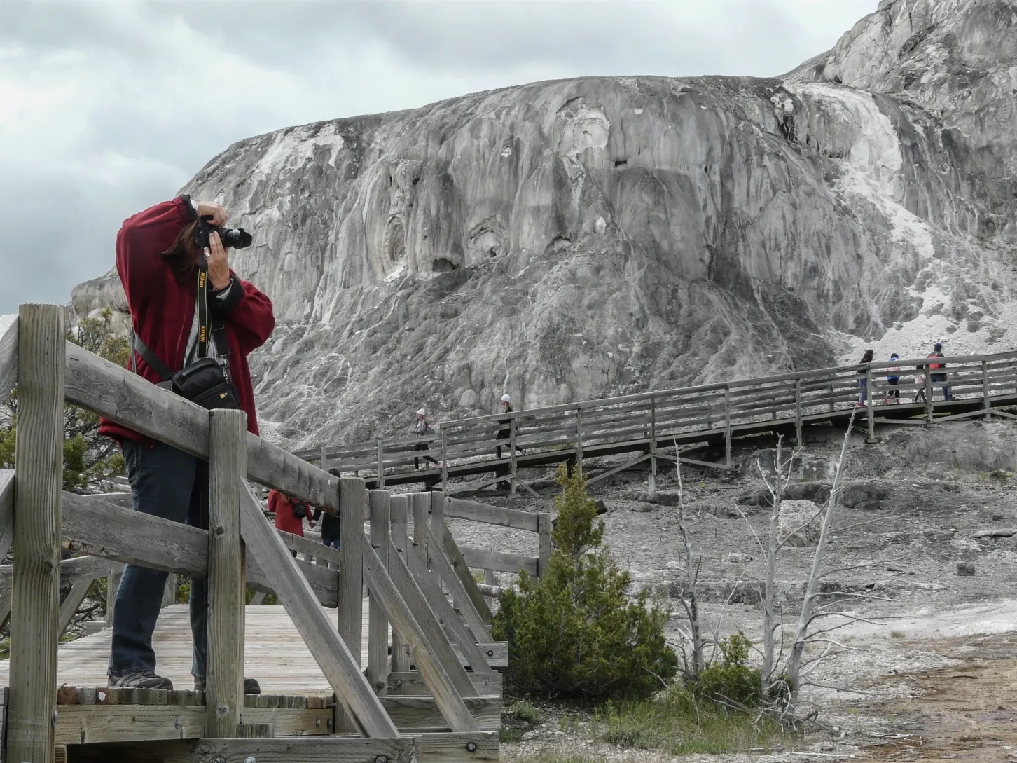
<instances>
[{"instance_id":1,"label":"distant wooden walkway railing sloping upward along the hillside base","mask_svg":"<svg viewBox=\"0 0 1017 763\"><path fill-rule=\"evenodd\" d=\"M938 363L947 367L929 369ZM901 369L896 386L887 383L887 369L891 367ZM942 396L943 384L932 379L938 373L948 374L947 384L956 402L963 404L955 407L965 410L954 412L951 405L935 400L936 395ZM919 384L915 376L922 374L924 379ZM729 470L732 437L760 431L775 422L793 427L801 442L805 425L829 420L856 405L859 380L865 380L866 391L872 393L864 414L870 437L877 424L891 422L885 415L888 409L881 406L888 393L896 393L905 404L892 411L892 423L928 425L940 413L945 415L937 417L938 421L980 415L1009 417L1011 414L995 406L1017 397L1017 352L901 359L588 400L444 421L440 433L427 437L320 446L295 455L327 465L334 472L373 475L380 486L386 479L405 477L415 469L415 459L422 461L426 454L440 461L441 467L424 464L420 479L440 480L442 489L451 494L450 473L479 473L474 468L479 464L486 464L488 471L497 470L498 475L473 483L469 489L505 481L515 493L517 484L527 487L517 479L517 470L529 463L559 460L582 467L584 458L637 451L641 452L639 457L593 475L591 481L650 460L653 485L657 459ZM912 402L916 395L917 403ZM706 462L680 455L679 445L702 442L722 445L723 459ZM421 443L428 444L429 450L416 451Z\"/></svg>"}]
</instances>

